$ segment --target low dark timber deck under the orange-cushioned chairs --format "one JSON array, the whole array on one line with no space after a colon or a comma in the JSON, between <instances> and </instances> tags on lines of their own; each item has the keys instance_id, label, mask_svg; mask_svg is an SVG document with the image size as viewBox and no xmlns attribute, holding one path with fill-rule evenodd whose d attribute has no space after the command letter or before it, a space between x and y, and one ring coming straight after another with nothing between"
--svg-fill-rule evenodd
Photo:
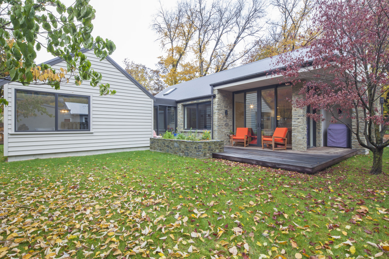
<instances>
[{"instance_id":1,"label":"low dark timber deck under the orange-cushioned chairs","mask_svg":"<svg viewBox=\"0 0 389 259\"><path fill-rule=\"evenodd\" d=\"M312 174L356 154L356 149L338 147L314 147L307 151L272 151L258 147L224 146L224 152L213 153L212 157Z\"/></svg>"}]
</instances>

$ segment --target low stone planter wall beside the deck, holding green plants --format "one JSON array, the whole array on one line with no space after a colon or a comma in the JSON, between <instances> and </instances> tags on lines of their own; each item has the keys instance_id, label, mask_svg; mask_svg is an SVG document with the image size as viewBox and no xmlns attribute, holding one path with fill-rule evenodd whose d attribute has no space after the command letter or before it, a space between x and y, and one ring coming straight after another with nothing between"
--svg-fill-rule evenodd
<instances>
[{"instance_id":1,"label":"low stone planter wall beside the deck, holding green plants","mask_svg":"<svg viewBox=\"0 0 389 259\"><path fill-rule=\"evenodd\" d=\"M212 153L224 151L223 140L189 141L150 138L150 151L165 152L190 158L211 158Z\"/></svg>"}]
</instances>

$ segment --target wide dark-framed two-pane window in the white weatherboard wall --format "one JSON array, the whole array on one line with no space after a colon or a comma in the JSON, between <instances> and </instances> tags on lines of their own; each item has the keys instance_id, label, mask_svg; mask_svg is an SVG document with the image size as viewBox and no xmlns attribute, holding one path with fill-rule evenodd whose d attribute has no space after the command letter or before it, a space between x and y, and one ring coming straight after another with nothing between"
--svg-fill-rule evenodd
<instances>
[{"instance_id":1,"label":"wide dark-framed two-pane window in the white weatherboard wall","mask_svg":"<svg viewBox=\"0 0 389 259\"><path fill-rule=\"evenodd\" d=\"M90 98L16 90L15 131L89 131Z\"/></svg>"}]
</instances>

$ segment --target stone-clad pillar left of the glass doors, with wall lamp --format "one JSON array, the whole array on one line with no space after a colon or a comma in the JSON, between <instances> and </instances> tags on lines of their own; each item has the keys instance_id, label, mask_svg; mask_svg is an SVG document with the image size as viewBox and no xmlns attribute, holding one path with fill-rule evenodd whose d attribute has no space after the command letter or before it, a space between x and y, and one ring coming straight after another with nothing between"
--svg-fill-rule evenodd
<instances>
[{"instance_id":1,"label":"stone-clad pillar left of the glass doors, with wall lamp","mask_svg":"<svg viewBox=\"0 0 389 259\"><path fill-rule=\"evenodd\" d=\"M229 133L232 130L232 92L224 90L214 90L214 139L224 140L224 145L229 145ZM227 115L225 114L227 110Z\"/></svg>"}]
</instances>

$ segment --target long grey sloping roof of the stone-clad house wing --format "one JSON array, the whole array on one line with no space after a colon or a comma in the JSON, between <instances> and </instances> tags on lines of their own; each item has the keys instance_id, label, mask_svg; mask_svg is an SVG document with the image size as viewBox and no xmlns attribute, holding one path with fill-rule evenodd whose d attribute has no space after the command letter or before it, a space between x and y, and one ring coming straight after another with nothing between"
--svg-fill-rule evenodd
<instances>
[{"instance_id":1,"label":"long grey sloping roof of the stone-clad house wing","mask_svg":"<svg viewBox=\"0 0 389 259\"><path fill-rule=\"evenodd\" d=\"M297 50L296 53L299 51L304 50ZM278 56L273 56L272 58L261 59L252 63L230 68L228 70L206 75L205 77L198 77L196 79L182 82L174 86L169 86L160 93L156 94L155 97L178 101L210 96L212 94L211 86L219 86L228 84L230 82L237 82L255 77L266 76L270 70L284 67L284 64L274 64L277 57ZM176 89L166 94L168 91L174 88Z\"/></svg>"}]
</instances>

